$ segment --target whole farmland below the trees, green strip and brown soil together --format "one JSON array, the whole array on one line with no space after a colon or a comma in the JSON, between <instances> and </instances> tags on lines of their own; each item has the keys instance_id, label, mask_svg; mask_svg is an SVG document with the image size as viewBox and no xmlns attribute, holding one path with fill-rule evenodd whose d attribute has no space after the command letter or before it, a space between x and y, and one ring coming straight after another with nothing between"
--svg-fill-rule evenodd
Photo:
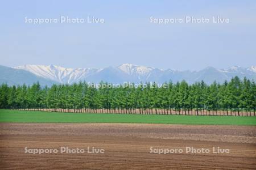
<instances>
[{"instance_id":1,"label":"whole farmland below the trees, green strip and brown soil together","mask_svg":"<svg viewBox=\"0 0 256 170\"><path fill-rule=\"evenodd\" d=\"M179 125L178 125L179 124ZM2 169L255 169L256 117L0 109ZM28 154L100 148L103 154ZM185 152L187 147L209 153ZM229 150L214 153L213 147ZM182 150L156 154L151 149Z\"/></svg>"}]
</instances>

